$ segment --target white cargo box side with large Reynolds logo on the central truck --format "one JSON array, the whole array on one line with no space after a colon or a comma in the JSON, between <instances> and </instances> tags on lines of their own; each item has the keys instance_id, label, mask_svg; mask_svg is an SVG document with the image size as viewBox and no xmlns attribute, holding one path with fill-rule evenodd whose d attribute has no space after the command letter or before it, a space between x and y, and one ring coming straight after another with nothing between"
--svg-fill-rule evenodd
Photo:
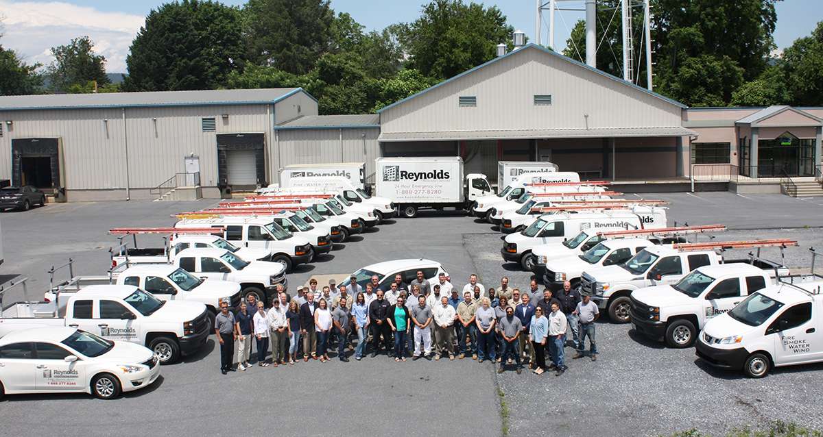
<instances>
[{"instance_id":1,"label":"white cargo box side with large Reynolds logo on the central truck","mask_svg":"<svg viewBox=\"0 0 823 437\"><path fill-rule=\"evenodd\" d=\"M377 196L398 203L463 202L463 159L377 159Z\"/></svg>"}]
</instances>

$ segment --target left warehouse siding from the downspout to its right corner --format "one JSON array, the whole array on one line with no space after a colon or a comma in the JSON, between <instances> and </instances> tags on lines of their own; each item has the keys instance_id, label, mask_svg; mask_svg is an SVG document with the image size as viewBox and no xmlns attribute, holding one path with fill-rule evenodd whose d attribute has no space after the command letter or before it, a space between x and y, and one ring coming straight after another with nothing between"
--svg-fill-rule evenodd
<instances>
[{"instance_id":1,"label":"left warehouse siding from the downspout to its right corner","mask_svg":"<svg viewBox=\"0 0 823 437\"><path fill-rule=\"evenodd\" d=\"M217 135L266 133L271 144L267 105L126 109L131 186L153 187L182 173L184 157L200 157L203 186L217 184ZM228 114L224 120L222 114ZM202 117L215 117L216 131L203 132ZM155 122L157 118L156 131Z\"/></svg>"}]
</instances>

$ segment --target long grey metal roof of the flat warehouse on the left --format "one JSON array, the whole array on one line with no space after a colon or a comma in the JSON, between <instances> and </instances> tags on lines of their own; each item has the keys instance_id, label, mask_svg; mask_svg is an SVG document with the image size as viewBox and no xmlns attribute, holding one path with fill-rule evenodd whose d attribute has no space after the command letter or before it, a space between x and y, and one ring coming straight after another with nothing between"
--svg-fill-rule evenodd
<instances>
[{"instance_id":1,"label":"long grey metal roof of the flat warehouse on the left","mask_svg":"<svg viewBox=\"0 0 823 437\"><path fill-rule=\"evenodd\" d=\"M258 90L152 91L140 93L40 94L0 96L0 111L25 109L136 108L275 103L301 88ZM305 91L303 91L305 92ZM308 94L308 93L306 93Z\"/></svg>"}]
</instances>

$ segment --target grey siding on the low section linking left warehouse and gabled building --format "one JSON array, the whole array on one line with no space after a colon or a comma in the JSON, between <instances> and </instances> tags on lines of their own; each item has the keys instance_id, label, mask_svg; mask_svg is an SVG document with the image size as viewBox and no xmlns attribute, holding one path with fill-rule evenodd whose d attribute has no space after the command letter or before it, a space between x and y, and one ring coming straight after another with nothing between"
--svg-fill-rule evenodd
<instances>
[{"instance_id":1,"label":"grey siding on the low section linking left warehouse and gabled building","mask_svg":"<svg viewBox=\"0 0 823 437\"><path fill-rule=\"evenodd\" d=\"M342 140L341 140L342 133ZM295 163L348 163L365 162L365 174L374 173L374 159L380 156L377 137L379 129L300 129L277 131L280 150L276 168L272 171L279 176L280 168ZM363 143L365 140L365 155ZM272 177L272 181L276 180Z\"/></svg>"}]
</instances>

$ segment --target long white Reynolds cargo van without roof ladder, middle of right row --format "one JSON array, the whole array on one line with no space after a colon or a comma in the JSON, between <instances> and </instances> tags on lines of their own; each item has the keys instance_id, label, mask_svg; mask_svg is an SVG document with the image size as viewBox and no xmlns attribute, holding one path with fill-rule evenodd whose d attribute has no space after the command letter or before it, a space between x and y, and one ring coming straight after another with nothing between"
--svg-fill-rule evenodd
<instances>
[{"instance_id":1,"label":"long white Reynolds cargo van without roof ladder, middle of right row","mask_svg":"<svg viewBox=\"0 0 823 437\"><path fill-rule=\"evenodd\" d=\"M562 242L584 229L615 230L640 228L665 228L666 209L657 206L639 206L635 209L613 209L592 213L543 214L523 232L507 235L503 260L519 263L523 269L534 268L532 251L550 242Z\"/></svg>"}]
</instances>

